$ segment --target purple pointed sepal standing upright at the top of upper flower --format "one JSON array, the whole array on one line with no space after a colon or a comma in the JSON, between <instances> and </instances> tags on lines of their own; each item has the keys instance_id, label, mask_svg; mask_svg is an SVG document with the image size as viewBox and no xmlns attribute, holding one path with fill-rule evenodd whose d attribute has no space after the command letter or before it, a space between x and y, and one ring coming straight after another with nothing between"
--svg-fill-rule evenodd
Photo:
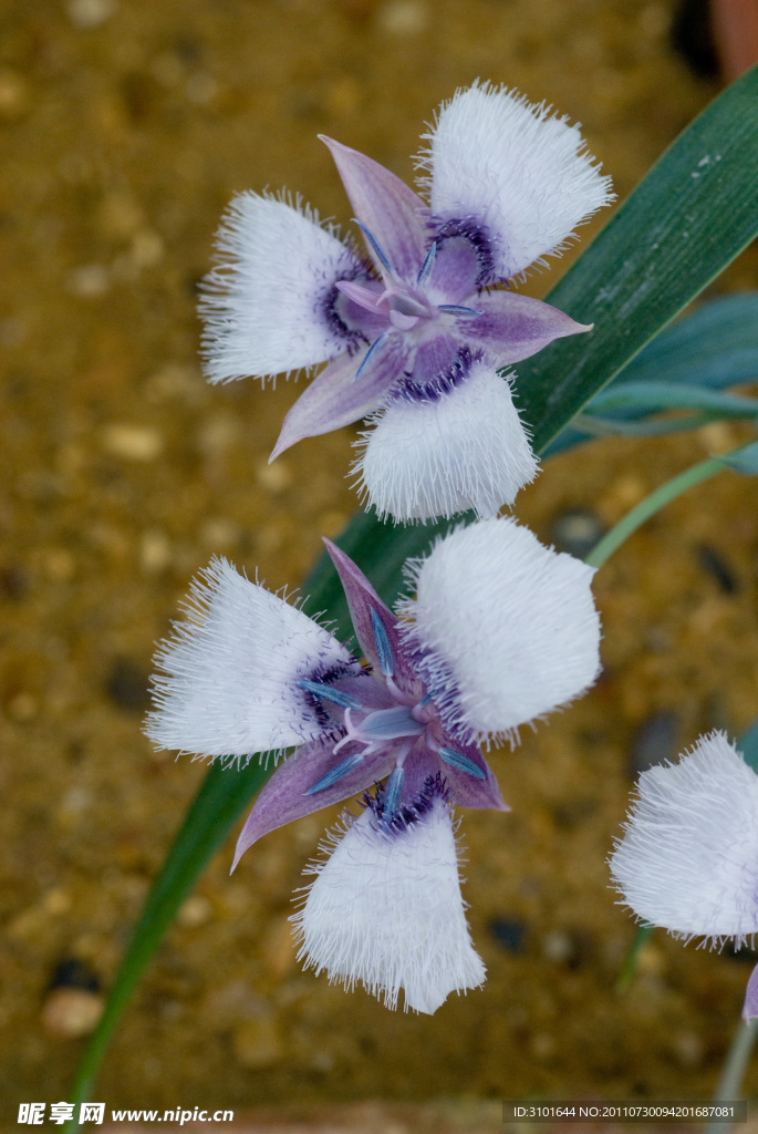
<instances>
[{"instance_id":1,"label":"purple pointed sepal standing upright at the top of upper flower","mask_svg":"<svg viewBox=\"0 0 758 1134\"><path fill-rule=\"evenodd\" d=\"M426 205L378 162L323 134L320 137L330 149L356 219L371 231L397 274L415 284L429 244L423 219ZM367 243L381 271L382 264Z\"/></svg>"}]
</instances>

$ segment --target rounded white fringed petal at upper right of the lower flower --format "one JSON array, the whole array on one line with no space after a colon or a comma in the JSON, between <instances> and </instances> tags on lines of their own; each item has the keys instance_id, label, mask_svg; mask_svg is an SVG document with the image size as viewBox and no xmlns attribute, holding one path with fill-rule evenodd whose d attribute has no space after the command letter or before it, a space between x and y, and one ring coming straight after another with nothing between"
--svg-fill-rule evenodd
<instances>
[{"instance_id":1,"label":"rounded white fringed petal at upper right of the lower flower","mask_svg":"<svg viewBox=\"0 0 758 1134\"><path fill-rule=\"evenodd\" d=\"M601 626L579 559L510 518L459 527L409 565L416 598L398 607L443 720L474 742L584 693L599 671Z\"/></svg>"}]
</instances>

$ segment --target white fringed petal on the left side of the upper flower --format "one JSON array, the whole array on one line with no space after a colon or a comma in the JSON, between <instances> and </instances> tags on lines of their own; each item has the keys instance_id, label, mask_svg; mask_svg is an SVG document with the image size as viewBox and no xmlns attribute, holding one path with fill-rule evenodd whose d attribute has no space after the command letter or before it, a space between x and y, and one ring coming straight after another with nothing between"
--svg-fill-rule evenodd
<instances>
[{"instance_id":1,"label":"white fringed petal on the left side of the upper flower","mask_svg":"<svg viewBox=\"0 0 758 1134\"><path fill-rule=\"evenodd\" d=\"M316 212L240 193L216 247L222 263L206 277L199 304L208 381L266 378L347 349L348 336L327 316L330 290L358 262Z\"/></svg>"}]
</instances>

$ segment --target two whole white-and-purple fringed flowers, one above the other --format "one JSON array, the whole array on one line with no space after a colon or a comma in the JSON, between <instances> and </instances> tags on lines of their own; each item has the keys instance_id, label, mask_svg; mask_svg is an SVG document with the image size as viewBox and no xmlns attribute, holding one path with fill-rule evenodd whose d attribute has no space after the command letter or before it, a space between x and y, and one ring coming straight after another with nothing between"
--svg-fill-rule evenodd
<instances>
[{"instance_id":1,"label":"two whole white-and-purple fringed flowers, one above the other","mask_svg":"<svg viewBox=\"0 0 758 1134\"><path fill-rule=\"evenodd\" d=\"M363 794L315 863L295 915L300 956L390 1008L433 1013L482 984L459 879L453 806L508 810L485 758L580 696L599 670L593 569L499 517L537 460L510 367L591 330L514 281L611 197L579 130L504 88L442 107L421 193L324 139L365 249L299 200L245 193L205 282L208 379L324 367L288 413L272 459L367 418L355 466L395 522L479 519L407 565L390 610L338 547L352 653L283 596L214 560L161 645L147 733L162 747L280 763L235 864L283 823Z\"/></svg>"}]
</instances>

